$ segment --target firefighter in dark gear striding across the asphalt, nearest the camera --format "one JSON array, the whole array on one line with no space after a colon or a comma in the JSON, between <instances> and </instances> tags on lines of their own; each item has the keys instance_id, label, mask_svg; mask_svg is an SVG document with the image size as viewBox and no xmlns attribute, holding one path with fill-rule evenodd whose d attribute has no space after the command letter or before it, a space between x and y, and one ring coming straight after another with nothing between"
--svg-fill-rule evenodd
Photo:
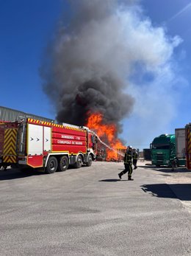
<instances>
[{"instance_id":1,"label":"firefighter in dark gear striding across the asphalt, nearest the camera","mask_svg":"<svg viewBox=\"0 0 191 256\"><path fill-rule=\"evenodd\" d=\"M132 147L131 146L128 146L126 149L126 153L124 156L124 165L125 165L125 170L118 173L119 179L121 179L121 176L123 176L123 174L128 172L128 180L133 181L133 179L131 179L131 174L133 172L133 169L132 169Z\"/></svg>"}]
</instances>

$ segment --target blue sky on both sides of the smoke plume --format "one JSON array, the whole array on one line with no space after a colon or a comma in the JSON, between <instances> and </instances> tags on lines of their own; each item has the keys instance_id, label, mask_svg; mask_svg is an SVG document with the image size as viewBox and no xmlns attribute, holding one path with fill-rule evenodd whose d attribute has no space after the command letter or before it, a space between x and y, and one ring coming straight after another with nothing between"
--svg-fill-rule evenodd
<instances>
[{"instance_id":1,"label":"blue sky on both sides of the smoke plume","mask_svg":"<svg viewBox=\"0 0 191 256\"><path fill-rule=\"evenodd\" d=\"M191 1L142 0L139 5L144 17L151 21L152 27L162 27L167 38L178 35L180 39L170 58L173 63L173 76L178 78L173 78L173 87L167 89L167 94L171 94L167 112L163 107L168 98L161 97L161 114L158 107L155 116L151 115L151 118L141 122L143 116L139 115L143 110L142 101L137 105L137 111L123 120L121 137L134 147L148 148L154 136L173 134L175 128L182 128L191 122ZM1 106L54 119L54 105L43 93L39 68L46 46L54 37L62 10L67 8L68 4L62 0L0 0ZM143 91L144 95L144 86L151 82L152 74L146 72L143 77L137 74L132 76L132 80L133 83L140 83L140 91ZM172 82L170 79L168 83ZM144 86L141 85L142 82ZM161 83L163 82L164 80L161 80ZM156 86L159 86L158 82ZM169 85L165 86L168 88ZM165 86L162 87L163 91ZM137 92L134 89L131 89L131 92L138 101L140 96L136 94ZM149 91L146 93L148 95ZM154 109L154 100L152 104L145 108L143 113L145 116L150 111L149 108Z\"/></svg>"}]
</instances>

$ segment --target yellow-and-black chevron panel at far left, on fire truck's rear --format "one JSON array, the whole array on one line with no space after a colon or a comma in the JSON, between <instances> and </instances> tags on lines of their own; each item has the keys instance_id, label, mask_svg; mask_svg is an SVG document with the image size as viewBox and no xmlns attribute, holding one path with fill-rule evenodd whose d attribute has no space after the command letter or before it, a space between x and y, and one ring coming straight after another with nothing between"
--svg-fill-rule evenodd
<instances>
[{"instance_id":1,"label":"yellow-and-black chevron panel at far left, on fire truck's rear","mask_svg":"<svg viewBox=\"0 0 191 256\"><path fill-rule=\"evenodd\" d=\"M4 131L3 162L16 162L16 138L16 128L9 128Z\"/></svg>"}]
</instances>

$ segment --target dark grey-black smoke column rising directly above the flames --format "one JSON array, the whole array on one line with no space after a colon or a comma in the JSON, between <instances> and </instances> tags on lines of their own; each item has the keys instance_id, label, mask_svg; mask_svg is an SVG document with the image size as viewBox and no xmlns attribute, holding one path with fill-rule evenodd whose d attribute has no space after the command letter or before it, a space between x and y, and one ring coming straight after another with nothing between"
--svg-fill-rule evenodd
<instances>
[{"instance_id":1,"label":"dark grey-black smoke column rising directly above the flames","mask_svg":"<svg viewBox=\"0 0 191 256\"><path fill-rule=\"evenodd\" d=\"M129 2L129 8L132 1ZM118 1L69 1L71 19L60 18L41 69L43 89L57 109L57 121L85 125L88 114L115 123L131 113L126 93L129 66ZM47 60L48 56L48 60Z\"/></svg>"}]
</instances>

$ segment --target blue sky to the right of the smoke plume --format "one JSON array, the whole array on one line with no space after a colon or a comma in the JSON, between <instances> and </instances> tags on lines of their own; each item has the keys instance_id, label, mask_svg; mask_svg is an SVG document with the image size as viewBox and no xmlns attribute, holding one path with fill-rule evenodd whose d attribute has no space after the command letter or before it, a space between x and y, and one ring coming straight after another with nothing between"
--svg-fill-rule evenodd
<instances>
[{"instance_id":1,"label":"blue sky to the right of the smoke plume","mask_svg":"<svg viewBox=\"0 0 191 256\"><path fill-rule=\"evenodd\" d=\"M130 117L126 120L126 125L130 125L127 129L127 134L137 133L139 139L134 139L134 136L130 137L130 144L135 145L137 148L148 148L149 143L154 136L159 134L174 134L175 128L184 128L184 126L190 121L190 81L191 81L191 1L187 0L167 0L167 1L141 1L145 15L151 18L151 22L155 27L163 27L167 36L179 35L181 38L181 44L174 49L173 53L173 65L175 68L175 75L179 77L177 83L173 85L170 93L172 94L173 114L167 115L164 109L165 99L161 98L161 112L164 118L160 117L160 108L156 111L156 117L159 116L159 122L162 123L165 120L165 116L169 117L169 122L162 124L159 127L159 123L151 119L148 120L148 126L151 129L143 127L134 129L139 124L139 120L135 120L134 117ZM165 86L164 86L165 88ZM144 92L143 92L144 93ZM169 91L167 90L167 93ZM149 106L150 107L150 106ZM140 107L141 108L141 107ZM153 108L153 105L151 105ZM148 110L149 111L149 110ZM146 113L145 113L146 115ZM158 126L158 129L156 128ZM147 139L143 138L146 134ZM131 139L132 138L132 139ZM149 141L150 139L150 141ZM134 143L135 142L135 143Z\"/></svg>"}]
</instances>

